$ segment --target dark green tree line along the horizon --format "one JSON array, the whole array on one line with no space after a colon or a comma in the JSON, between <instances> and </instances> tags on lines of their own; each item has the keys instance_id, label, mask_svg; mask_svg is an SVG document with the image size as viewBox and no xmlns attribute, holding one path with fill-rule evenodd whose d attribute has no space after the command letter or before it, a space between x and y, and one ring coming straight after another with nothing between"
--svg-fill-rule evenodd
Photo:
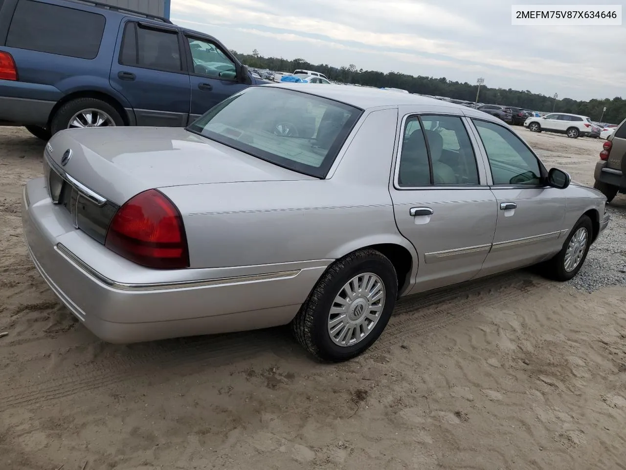
<instances>
[{"instance_id":1,"label":"dark green tree line along the horizon","mask_svg":"<svg viewBox=\"0 0 626 470\"><path fill-rule=\"evenodd\" d=\"M478 88L478 85L447 80L445 77L413 76L394 71L382 73L375 70L357 69L354 64L339 68L328 64L314 65L301 58L286 60L282 57L264 57L257 50L252 51L252 54L243 54L237 51L231 52L242 63L250 67L288 72L293 72L299 68L316 70L324 73L330 80L341 83L354 83L356 85L376 86L378 88L383 86L402 88L410 93L420 93L421 95L448 97L473 102L476 99ZM556 112L588 116L592 120L600 120L600 117L602 117L602 122L614 124L618 124L626 118L626 100L622 100L621 97L589 101L562 98L557 99L555 103L555 98L532 93L530 90L512 90L511 88L505 90L504 88L490 88L482 85L478 99L481 103L514 106L533 111L552 112L554 109ZM604 107L607 110L602 116L602 108Z\"/></svg>"}]
</instances>

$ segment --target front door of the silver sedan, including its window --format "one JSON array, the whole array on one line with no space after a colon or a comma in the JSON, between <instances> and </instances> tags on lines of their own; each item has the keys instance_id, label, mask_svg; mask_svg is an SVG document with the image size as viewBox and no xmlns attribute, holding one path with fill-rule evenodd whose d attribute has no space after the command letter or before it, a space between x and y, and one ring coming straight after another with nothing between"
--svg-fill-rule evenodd
<instances>
[{"instance_id":1,"label":"front door of the silver sedan, including its window","mask_svg":"<svg viewBox=\"0 0 626 470\"><path fill-rule=\"evenodd\" d=\"M488 162L498 222L481 275L533 264L557 253L566 234L562 189L545 185L545 168L511 130L472 118Z\"/></svg>"}]
</instances>

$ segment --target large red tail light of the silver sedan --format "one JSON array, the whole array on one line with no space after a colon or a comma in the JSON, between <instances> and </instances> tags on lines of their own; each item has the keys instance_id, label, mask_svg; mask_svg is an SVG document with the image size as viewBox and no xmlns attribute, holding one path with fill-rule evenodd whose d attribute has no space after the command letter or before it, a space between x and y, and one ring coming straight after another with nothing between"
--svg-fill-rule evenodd
<instances>
[{"instance_id":1,"label":"large red tail light of the silver sedan","mask_svg":"<svg viewBox=\"0 0 626 470\"><path fill-rule=\"evenodd\" d=\"M189 267L182 216L156 189L140 192L118 209L106 232L105 246L149 268Z\"/></svg>"}]
</instances>

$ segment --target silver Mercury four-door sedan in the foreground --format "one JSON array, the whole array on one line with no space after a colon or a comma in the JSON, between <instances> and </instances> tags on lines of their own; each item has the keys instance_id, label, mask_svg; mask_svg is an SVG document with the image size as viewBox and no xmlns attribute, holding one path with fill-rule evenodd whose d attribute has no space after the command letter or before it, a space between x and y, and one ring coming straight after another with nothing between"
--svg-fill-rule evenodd
<instances>
[{"instance_id":1,"label":"silver Mercury four-door sedan in the foreground","mask_svg":"<svg viewBox=\"0 0 626 470\"><path fill-rule=\"evenodd\" d=\"M376 341L401 296L536 263L571 279L605 201L486 113L277 84L184 129L57 133L23 224L43 278L103 340L290 323L339 361Z\"/></svg>"}]
</instances>

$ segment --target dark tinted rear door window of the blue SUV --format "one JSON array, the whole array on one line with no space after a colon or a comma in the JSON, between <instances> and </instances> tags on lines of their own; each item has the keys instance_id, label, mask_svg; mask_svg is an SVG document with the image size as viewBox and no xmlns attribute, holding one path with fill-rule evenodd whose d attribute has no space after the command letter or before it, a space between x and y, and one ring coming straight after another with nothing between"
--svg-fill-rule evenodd
<instances>
[{"instance_id":1,"label":"dark tinted rear door window of the blue SUV","mask_svg":"<svg viewBox=\"0 0 626 470\"><path fill-rule=\"evenodd\" d=\"M182 70L178 33L144 28L134 21L124 27L120 64L170 72Z\"/></svg>"}]
</instances>

